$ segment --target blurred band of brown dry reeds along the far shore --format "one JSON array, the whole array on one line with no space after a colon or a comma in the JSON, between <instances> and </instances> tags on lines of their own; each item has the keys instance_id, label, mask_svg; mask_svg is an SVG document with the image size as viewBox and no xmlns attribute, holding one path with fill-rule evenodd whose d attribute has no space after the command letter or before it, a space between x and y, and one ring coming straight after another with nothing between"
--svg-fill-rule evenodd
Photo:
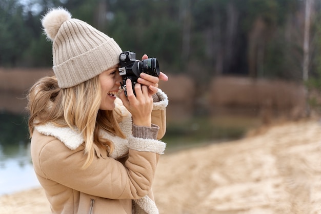
<instances>
[{"instance_id":1,"label":"blurred band of brown dry reeds along the far shore","mask_svg":"<svg viewBox=\"0 0 321 214\"><path fill-rule=\"evenodd\" d=\"M51 68L0 68L0 110L23 112L28 89L39 78L52 74ZM212 116L251 114L262 118L265 124L274 117L297 120L306 114L305 89L303 85L291 82L216 77L209 91L195 94L194 81L180 74L169 75L169 81L160 82L159 87L169 97L168 121L184 120L193 115L196 108L206 109ZM200 100L202 103L197 103Z\"/></svg>"}]
</instances>

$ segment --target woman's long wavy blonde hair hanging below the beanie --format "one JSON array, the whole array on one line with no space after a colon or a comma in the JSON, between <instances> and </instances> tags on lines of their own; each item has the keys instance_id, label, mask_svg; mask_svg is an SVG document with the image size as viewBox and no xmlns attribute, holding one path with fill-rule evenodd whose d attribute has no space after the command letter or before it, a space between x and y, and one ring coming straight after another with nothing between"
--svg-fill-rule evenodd
<instances>
[{"instance_id":1,"label":"woman's long wavy blonde hair hanging below the beanie","mask_svg":"<svg viewBox=\"0 0 321 214\"><path fill-rule=\"evenodd\" d=\"M101 86L98 75L70 88L59 88L55 76L40 79L30 89L27 109L30 112L30 137L36 125L52 122L57 126L68 126L81 132L85 140L87 168L94 158L94 147L106 149L110 154L113 143L101 136L101 130L125 138L118 122L122 120L119 111L99 110Z\"/></svg>"}]
</instances>

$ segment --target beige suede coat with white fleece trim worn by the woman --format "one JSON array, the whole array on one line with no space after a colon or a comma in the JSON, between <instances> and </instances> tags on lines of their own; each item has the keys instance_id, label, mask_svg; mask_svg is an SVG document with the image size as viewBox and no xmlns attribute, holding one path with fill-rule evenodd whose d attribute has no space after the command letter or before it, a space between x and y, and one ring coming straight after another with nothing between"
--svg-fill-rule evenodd
<instances>
[{"instance_id":1,"label":"beige suede coat with white fleece trim worn by the woman","mask_svg":"<svg viewBox=\"0 0 321 214\"><path fill-rule=\"evenodd\" d=\"M160 90L157 95L160 102L154 103L152 122L159 126L159 139L166 130L168 100ZM156 140L156 127L150 128L150 136L137 136L133 132L143 133L142 127L132 128L126 108L120 104L116 107L128 114L119 124L127 139L104 133L115 150L108 157L106 151L95 147L94 160L87 169L81 169L86 157L79 133L51 123L35 127L32 162L53 213L158 213L151 186L166 144Z\"/></svg>"}]
</instances>

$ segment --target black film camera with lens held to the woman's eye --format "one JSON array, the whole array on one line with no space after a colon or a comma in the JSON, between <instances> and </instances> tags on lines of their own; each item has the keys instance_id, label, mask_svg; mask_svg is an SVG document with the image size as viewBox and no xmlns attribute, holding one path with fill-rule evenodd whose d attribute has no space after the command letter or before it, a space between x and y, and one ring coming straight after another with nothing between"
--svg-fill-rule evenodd
<instances>
[{"instance_id":1,"label":"black film camera with lens held to the woman's eye","mask_svg":"<svg viewBox=\"0 0 321 214\"><path fill-rule=\"evenodd\" d=\"M121 83L122 88L126 90L126 80L130 79L132 82L133 91L135 94L134 86L137 83L139 74L142 72L152 76L159 76L159 65L156 58L148 58L146 60L136 60L136 53L130 51L124 51L119 55L119 75L123 78Z\"/></svg>"}]
</instances>

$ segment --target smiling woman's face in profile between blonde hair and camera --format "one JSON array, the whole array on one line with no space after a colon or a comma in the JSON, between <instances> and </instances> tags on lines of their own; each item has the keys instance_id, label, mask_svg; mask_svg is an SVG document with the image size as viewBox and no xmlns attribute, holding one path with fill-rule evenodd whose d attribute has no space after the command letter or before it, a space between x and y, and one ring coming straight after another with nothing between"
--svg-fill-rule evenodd
<instances>
[{"instance_id":1,"label":"smiling woman's face in profile between blonde hair and camera","mask_svg":"<svg viewBox=\"0 0 321 214\"><path fill-rule=\"evenodd\" d=\"M115 108L116 93L119 90L122 77L119 76L118 65L99 74L102 87L102 103L99 109L113 110Z\"/></svg>"}]
</instances>

